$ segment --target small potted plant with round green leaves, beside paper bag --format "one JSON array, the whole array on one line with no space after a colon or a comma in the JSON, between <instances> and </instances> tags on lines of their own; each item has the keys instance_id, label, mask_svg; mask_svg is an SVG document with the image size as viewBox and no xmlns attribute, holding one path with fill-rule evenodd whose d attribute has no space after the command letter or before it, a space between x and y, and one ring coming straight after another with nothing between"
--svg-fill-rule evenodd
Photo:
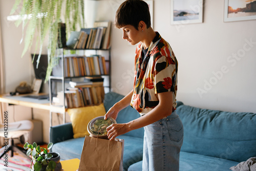
<instances>
[{"instance_id":1,"label":"small potted plant with round green leaves, beside paper bag","mask_svg":"<svg viewBox=\"0 0 256 171\"><path fill-rule=\"evenodd\" d=\"M33 144L29 144L26 142L24 145L24 149L27 149L27 156L32 156L31 170L39 171L39 170L61 170L61 163L59 162L60 157L58 153L49 153L48 150L51 149L53 143L50 142L46 148L40 147L35 142Z\"/></svg>"}]
</instances>

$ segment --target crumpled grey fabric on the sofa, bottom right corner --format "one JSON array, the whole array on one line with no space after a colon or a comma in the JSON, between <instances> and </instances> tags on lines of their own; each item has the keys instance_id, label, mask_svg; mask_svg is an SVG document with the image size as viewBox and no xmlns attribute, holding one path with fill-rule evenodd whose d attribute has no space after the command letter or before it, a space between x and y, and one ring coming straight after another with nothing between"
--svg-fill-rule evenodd
<instances>
[{"instance_id":1,"label":"crumpled grey fabric on the sofa, bottom right corner","mask_svg":"<svg viewBox=\"0 0 256 171\"><path fill-rule=\"evenodd\" d=\"M256 168L256 157L251 157L246 161L239 163L236 166L232 166L229 169L233 171L250 171Z\"/></svg>"}]
</instances>

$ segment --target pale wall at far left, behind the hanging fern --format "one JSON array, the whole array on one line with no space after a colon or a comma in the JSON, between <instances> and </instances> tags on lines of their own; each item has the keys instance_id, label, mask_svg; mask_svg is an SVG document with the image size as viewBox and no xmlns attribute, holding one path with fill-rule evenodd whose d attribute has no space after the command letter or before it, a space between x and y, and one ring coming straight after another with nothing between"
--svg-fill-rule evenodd
<instances>
[{"instance_id":1,"label":"pale wall at far left, behind the hanging fern","mask_svg":"<svg viewBox=\"0 0 256 171\"><path fill-rule=\"evenodd\" d=\"M24 57L21 58L24 48L24 41L22 44L19 44L20 39L22 39L22 26L20 25L17 28L14 22L7 20L7 16L10 15L14 2L15 0L0 0L6 93L15 91L15 88L22 81L32 83L30 52L27 52Z\"/></svg>"}]
</instances>

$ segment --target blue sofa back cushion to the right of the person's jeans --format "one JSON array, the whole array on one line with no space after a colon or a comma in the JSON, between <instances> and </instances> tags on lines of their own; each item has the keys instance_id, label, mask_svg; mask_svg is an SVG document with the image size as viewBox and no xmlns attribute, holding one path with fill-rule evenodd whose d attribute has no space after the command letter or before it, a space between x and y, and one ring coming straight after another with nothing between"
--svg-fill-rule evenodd
<instances>
[{"instance_id":1,"label":"blue sofa back cushion to the right of the person's jeans","mask_svg":"<svg viewBox=\"0 0 256 171\"><path fill-rule=\"evenodd\" d=\"M177 114L184 126L181 151L238 162L256 156L256 114L188 105L178 106Z\"/></svg>"}]
</instances>

